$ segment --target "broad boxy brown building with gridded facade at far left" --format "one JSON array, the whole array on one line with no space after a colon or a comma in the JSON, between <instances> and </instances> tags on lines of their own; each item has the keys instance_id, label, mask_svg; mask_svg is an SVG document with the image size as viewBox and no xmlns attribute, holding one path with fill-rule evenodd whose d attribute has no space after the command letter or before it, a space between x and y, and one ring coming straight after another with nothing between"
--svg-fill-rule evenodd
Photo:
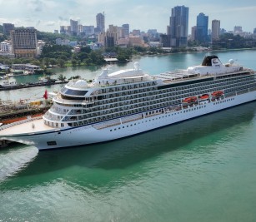
<instances>
[{"instance_id":1,"label":"broad boxy brown building with gridded facade at far left","mask_svg":"<svg viewBox=\"0 0 256 222\"><path fill-rule=\"evenodd\" d=\"M34 28L16 29L11 31L13 53L15 57L37 56L37 32Z\"/></svg>"}]
</instances>

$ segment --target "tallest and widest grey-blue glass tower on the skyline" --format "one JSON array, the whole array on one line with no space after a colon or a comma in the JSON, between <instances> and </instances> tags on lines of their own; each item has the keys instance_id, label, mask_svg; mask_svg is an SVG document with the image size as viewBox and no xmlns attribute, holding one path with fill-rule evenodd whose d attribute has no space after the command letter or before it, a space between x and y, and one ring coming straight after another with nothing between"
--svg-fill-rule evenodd
<instances>
[{"instance_id":1,"label":"tallest and widest grey-blue glass tower on the skyline","mask_svg":"<svg viewBox=\"0 0 256 222\"><path fill-rule=\"evenodd\" d=\"M188 7L172 8L172 15L168 26L169 47L188 46Z\"/></svg>"}]
</instances>

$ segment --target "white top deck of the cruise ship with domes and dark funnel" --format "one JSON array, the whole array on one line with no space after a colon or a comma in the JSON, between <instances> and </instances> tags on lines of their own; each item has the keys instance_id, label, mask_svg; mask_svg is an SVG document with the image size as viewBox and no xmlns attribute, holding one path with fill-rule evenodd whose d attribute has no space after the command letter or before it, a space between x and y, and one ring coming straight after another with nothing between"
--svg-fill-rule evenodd
<instances>
[{"instance_id":1,"label":"white top deck of the cruise ship with domes and dark funnel","mask_svg":"<svg viewBox=\"0 0 256 222\"><path fill-rule=\"evenodd\" d=\"M97 91L103 87L133 84L136 82L156 81L157 85L161 86L171 84L172 82L177 83L179 81L206 79L208 77L227 76L245 72L248 73L253 71L243 68L234 63L233 60L229 60L228 63L223 64L219 61L217 56L205 57L202 65L188 67L187 69L173 72L163 72L158 75L148 75L139 69L138 62L135 62L133 69L119 70L112 73L108 73L108 69L105 69L101 74L96 76L92 82L84 80L70 81L66 87L68 89L79 90L79 92L87 90L87 95L93 95L93 91ZM76 96L78 96L78 94ZM84 93L83 96L85 96Z\"/></svg>"}]
</instances>

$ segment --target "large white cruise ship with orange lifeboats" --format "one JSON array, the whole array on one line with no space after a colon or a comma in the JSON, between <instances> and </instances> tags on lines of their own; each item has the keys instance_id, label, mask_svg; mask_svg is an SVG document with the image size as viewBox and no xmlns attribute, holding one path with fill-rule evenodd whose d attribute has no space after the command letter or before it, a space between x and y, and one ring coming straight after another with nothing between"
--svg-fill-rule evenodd
<instances>
[{"instance_id":1,"label":"large white cruise ship with orange lifeboats","mask_svg":"<svg viewBox=\"0 0 256 222\"><path fill-rule=\"evenodd\" d=\"M69 81L43 117L0 127L0 140L39 150L112 141L256 100L255 72L217 56L186 70L149 75L139 68L91 82ZM173 126L175 127L175 126Z\"/></svg>"}]
</instances>

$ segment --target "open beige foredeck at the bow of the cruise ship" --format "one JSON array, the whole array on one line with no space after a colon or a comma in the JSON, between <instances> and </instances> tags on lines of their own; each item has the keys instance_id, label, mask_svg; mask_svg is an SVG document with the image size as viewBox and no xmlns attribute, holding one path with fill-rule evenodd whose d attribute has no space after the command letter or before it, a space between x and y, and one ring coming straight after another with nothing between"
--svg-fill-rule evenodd
<instances>
[{"instance_id":1,"label":"open beige foredeck at the bow of the cruise ship","mask_svg":"<svg viewBox=\"0 0 256 222\"><path fill-rule=\"evenodd\" d=\"M0 138L1 136L8 135L22 135L27 133L37 133L40 131L51 131L53 127L47 126L43 123L43 118L35 118L26 121L13 122L6 126L0 127Z\"/></svg>"}]
</instances>

